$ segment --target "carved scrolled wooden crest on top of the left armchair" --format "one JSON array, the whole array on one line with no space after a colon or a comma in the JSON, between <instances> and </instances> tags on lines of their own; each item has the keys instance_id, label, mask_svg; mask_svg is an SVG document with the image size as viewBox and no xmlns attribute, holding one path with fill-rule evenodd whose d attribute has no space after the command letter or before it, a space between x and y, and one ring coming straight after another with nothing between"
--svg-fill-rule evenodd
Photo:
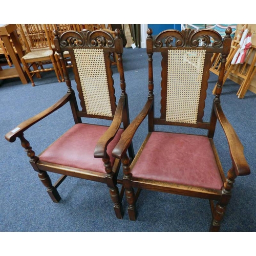
<instances>
[{"instance_id":1,"label":"carved scrolled wooden crest on top of the left armchair","mask_svg":"<svg viewBox=\"0 0 256 256\"><path fill-rule=\"evenodd\" d=\"M103 30L67 31L60 36L59 40L62 47L114 47L113 36Z\"/></svg>"}]
</instances>

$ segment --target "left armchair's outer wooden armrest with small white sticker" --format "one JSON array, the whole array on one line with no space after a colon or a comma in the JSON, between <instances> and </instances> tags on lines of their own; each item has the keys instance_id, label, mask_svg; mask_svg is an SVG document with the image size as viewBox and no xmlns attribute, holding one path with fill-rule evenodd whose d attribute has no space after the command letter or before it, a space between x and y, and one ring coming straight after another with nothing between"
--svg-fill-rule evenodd
<instances>
[{"instance_id":1,"label":"left armchair's outer wooden armrest with small white sticker","mask_svg":"<svg viewBox=\"0 0 256 256\"><path fill-rule=\"evenodd\" d=\"M37 114L36 116L33 116L33 117L27 119L26 121L20 123L12 131L7 133L5 135L5 138L10 142L14 142L18 136L22 135L23 132L25 132L27 129L29 129L29 127L31 127L33 124L37 123L41 119L47 117L54 111L61 108L61 106L65 105L69 101L70 96L71 96L71 94L67 93L64 97L62 97L59 101L57 101L55 104L50 106L50 108L48 108L47 110L44 110L44 111L40 112L39 114Z\"/></svg>"}]
</instances>

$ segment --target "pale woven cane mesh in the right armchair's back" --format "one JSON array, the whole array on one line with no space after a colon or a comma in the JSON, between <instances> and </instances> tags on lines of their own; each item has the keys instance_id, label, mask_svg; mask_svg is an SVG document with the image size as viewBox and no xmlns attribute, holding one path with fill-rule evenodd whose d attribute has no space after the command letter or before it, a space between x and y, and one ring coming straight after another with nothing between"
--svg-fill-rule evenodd
<instances>
[{"instance_id":1,"label":"pale woven cane mesh in the right armchair's back","mask_svg":"<svg viewBox=\"0 0 256 256\"><path fill-rule=\"evenodd\" d=\"M166 121L197 123L205 50L168 50Z\"/></svg>"}]
</instances>

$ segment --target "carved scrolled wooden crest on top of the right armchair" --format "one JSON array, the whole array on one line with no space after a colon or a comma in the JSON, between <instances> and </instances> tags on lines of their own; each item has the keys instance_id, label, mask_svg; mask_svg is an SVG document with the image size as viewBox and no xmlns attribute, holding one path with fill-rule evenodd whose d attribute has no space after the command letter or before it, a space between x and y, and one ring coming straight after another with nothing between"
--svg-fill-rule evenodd
<instances>
[{"instance_id":1,"label":"carved scrolled wooden crest on top of the right armchair","mask_svg":"<svg viewBox=\"0 0 256 256\"><path fill-rule=\"evenodd\" d=\"M151 31L147 31L150 35ZM229 31L227 31L229 32ZM192 47L196 48L201 45L202 48L220 48L223 44L222 37L214 30L202 29L202 30L191 30L185 29L182 31L178 30L166 30L158 34L154 40L156 48L163 47L163 41L165 47Z\"/></svg>"}]
</instances>

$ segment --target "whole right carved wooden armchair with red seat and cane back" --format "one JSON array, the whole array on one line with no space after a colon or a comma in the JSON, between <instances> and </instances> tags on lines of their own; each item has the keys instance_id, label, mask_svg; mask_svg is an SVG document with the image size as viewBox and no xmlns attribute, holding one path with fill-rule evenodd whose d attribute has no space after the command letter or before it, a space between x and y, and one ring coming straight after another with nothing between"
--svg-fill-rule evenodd
<instances>
[{"instance_id":1,"label":"whole right carved wooden armchair with red seat and cane back","mask_svg":"<svg viewBox=\"0 0 256 256\"><path fill-rule=\"evenodd\" d=\"M137 193L141 189L149 189L209 199L212 211L210 230L218 231L231 197L234 179L250 173L243 146L226 119L220 103L225 62L231 44L231 29L227 29L224 41L213 30L165 30L155 40L152 33L151 29L147 30L148 100L113 150L113 156L121 159L123 164L123 184L129 217L130 220L136 219ZM211 45L212 38L214 44ZM201 39L203 45L199 46ZM212 112L208 117L209 121L205 121L203 116L207 80L211 57L215 52L222 53L221 69ZM153 53L162 55L160 117L156 117L154 113ZM130 165L126 150L146 117L148 135ZM217 120L230 148L232 166L227 176L214 144ZM155 129L156 125L158 130ZM163 125L164 130L160 129ZM170 125L169 128L167 125ZM193 132L193 129L196 131ZM206 130L207 133L197 129ZM190 134L185 133L187 130ZM136 195L134 188L138 188Z\"/></svg>"}]
</instances>

